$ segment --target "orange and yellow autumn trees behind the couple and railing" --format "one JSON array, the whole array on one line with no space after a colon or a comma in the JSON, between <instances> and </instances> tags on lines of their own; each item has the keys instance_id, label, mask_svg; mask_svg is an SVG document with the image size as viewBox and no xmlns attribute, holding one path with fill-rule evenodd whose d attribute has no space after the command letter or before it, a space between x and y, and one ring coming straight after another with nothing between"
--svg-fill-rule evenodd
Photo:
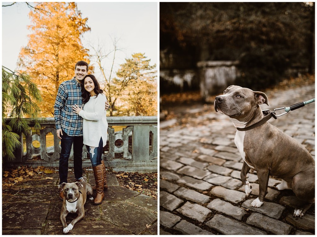
<instances>
[{"instance_id":1,"label":"orange and yellow autumn trees behind the couple and railing","mask_svg":"<svg viewBox=\"0 0 317 237\"><path fill-rule=\"evenodd\" d=\"M25 4L14 2L14 4ZM30 8L27 46L21 48L18 59L18 71L28 75L29 80L39 89L42 98L38 104L42 117L53 117L54 102L59 85L74 77L75 63L86 61L88 74L94 74L97 62L101 77L97 76L110 103L110 116L156 116L157 115L157 71L156 65L150 63L144 53L134 53L131 58L119 65L116 54L119 48L110 49L102 54L100 49L89 52L81 40L83 34L90 31L88 18L83 18L73 2L26 3ZM93 47L93 49L95 49ZM113 54L114 52L114 54ZM113 57L110 76L106 75L106 63ZM108 71L108 70L107 70ZM96 75L96 74L95 74ZM112 75L116 75L112 76ZM4 101L3 101L4 103ZM7 117L13 107L4 115Z\"/></svg>"}]
</instances>

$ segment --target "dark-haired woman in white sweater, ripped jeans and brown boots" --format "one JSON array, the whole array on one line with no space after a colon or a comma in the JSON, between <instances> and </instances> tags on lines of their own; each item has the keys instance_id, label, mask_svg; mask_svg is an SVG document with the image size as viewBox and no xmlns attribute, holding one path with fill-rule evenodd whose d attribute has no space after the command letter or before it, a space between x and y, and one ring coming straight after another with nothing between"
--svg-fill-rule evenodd
<instances>
[{"instance_id":1,"label":"dark-haired woman in white sweater, ripped jeans and brown boots","mask_svg":"<svg viewBox=\"0 0 317 237\"><path fill-rule=\"evenodd\" d=\"M96 182L96 196L94 204L100 204L107 189L106 167L101 158L103 147L107 143L108 123L106 119L106 96L100 89L99 83L92 74L86 75L81 83L81 96L84 108L73 106L75 113L83 118L83 139L89 152L91 165Z\"/></svg>"}]
</instances>

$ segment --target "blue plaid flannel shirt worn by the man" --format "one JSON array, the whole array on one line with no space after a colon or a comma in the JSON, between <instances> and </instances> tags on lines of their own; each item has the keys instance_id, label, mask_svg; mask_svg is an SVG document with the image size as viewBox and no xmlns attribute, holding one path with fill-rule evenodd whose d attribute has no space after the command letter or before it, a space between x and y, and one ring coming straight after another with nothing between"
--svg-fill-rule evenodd
<instances>
[{"instance_id":1,"label":"blue plaid flannel shirt worn by the man","mask_svg":"<svg viewBox=\"0 0 317 237\"><path fill-rule=\"evenodd\" d=\"M54 104L55 127L68 136L83 136L83 119L73 112L73 105L83 106L80 83L75 77L61 83Z\"/></svg>"}]
</instances>

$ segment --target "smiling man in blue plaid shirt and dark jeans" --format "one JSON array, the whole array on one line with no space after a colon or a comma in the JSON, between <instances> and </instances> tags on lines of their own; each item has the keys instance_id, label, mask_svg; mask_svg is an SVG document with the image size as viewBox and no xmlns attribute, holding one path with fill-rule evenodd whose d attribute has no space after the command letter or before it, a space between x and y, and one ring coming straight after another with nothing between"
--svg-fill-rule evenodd
<instances>
[{"instance_id":1,"label":"smiling man in blue plaid shirt and dark jeans","mask_svg":"<svg viewBox=\"0 0 317 237\"><path fill-rule=\"evenodd\" d=\"M59 176L61 183L67 183L68 158L73 145L75 181L86 181L82 176L83 120L73 112L72 106L83 106L81 97L81 82L88 73L88 63L78 61L75 65L75 76L61 83L54 104L54 118L57 137L61 139L61 154L59 161ZM106 102L106 109L109 104ZM59 188L59 197L64 199L63 189Z\"/></svg>"}]
</instances>

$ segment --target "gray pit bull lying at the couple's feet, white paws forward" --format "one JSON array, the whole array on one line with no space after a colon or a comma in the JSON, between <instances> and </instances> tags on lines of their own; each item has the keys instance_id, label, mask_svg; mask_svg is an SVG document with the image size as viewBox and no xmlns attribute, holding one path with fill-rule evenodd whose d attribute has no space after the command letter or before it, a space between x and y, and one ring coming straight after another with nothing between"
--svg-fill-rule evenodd
<instances>
[{"instance_id":1,"label":"gray pit bull lying at the couple's feet, white paws forward","mask_svg":"<svg viewBox=\"0 0 317 237\"><path fill-rule=\"evenodd\" d=\"M87 182L62 183L59 188L63 188L64 200L61 208L61 223L63 224L63 233L67 234L71 231L77 221L80 221L85 216L84 204L86 203L87 195L93 194L93 189ZM90 197L93 200L93 197ZM68 213L77 213L78 216L70 222L66 223Z\"/></svg>"}]
</instances>

